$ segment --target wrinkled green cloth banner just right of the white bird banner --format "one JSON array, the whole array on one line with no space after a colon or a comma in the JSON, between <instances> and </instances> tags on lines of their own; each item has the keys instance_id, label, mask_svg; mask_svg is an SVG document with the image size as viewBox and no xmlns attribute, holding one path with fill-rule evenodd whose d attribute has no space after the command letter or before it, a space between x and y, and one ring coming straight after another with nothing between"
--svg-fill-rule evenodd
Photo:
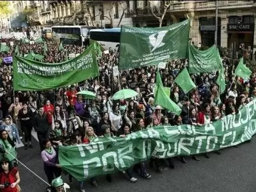
<instances>
[{"instance_id":1,"label":"wrinkled green cloth banner just right of the white bird banner","mask_svg":"<svg viewBox=\"0 0 256 192\"><path fill-rule=\"evenodd\" d=\"M216 45L205 51L200 51L188 44L189 74L214 72L220 69L221 58Z\"/></svg>"}]
</instances>

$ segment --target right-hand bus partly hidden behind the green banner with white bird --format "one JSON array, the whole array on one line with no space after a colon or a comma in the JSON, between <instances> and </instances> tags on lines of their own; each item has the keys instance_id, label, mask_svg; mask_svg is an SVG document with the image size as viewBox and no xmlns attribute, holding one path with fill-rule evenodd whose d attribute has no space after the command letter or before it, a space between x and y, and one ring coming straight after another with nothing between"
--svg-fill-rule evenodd
<instances>
[{"instance_id":1,"label":"right-hand bus partly hidden behind the green banner with white bird","mask_svg":"<svg viewBox=\"0 0 256 192\"><path fill-rule=\"evenodd\" d=\"M119 49L121 28L111 29L92 29L90 31L90 39L97 41L108 50ZM118 50L119 51L119 50Z\"/></svg>"}]
</instances>

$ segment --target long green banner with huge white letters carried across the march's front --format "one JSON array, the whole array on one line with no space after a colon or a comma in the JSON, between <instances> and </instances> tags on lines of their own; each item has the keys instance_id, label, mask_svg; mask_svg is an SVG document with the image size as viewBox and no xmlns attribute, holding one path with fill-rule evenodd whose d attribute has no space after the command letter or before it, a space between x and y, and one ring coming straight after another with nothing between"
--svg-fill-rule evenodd
<instances>
[{"instance_id":1,"label":"long green banner with huge white letters carried across the march's front","mask_svg":"<svg viewBox=\"0 0 256 192\"><path fill-rule=\"evenodd\" d=\"M97 138L88 145L59 148L60 164L77 180L125 170L158 158L189 156L238 145L256 132L256 100L237 115L203 126L158 126L132 132L126 138Z\"/></svg>"}]
</instances>

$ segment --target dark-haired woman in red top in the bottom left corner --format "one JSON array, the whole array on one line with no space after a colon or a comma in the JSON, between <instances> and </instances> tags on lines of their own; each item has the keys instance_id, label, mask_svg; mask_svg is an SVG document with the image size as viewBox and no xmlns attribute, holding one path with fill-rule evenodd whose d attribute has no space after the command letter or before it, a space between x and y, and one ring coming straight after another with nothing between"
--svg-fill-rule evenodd
<instances>
[{"instance_id":1,"label":"dark-haired woman in red top in the bottom left corner","mask_svg":"<svg viewBox=\"0 0 256 192\"><path fill-rule=\"evenodd\" d=\"M8 158L1 160L0 189L2 192L20 192L20 173L14 168Z\"/></svg>"}]
</instances>

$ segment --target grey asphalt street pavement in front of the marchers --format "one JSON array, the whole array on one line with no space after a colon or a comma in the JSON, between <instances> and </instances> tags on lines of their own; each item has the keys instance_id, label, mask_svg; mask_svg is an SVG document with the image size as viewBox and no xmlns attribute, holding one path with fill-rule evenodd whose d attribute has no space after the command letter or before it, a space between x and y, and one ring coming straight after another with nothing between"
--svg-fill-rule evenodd
<instances>
[{"instance_id":1,"label":"grey asphalt street pavement in front of the marchers","mask_svg":"<svg viewBox=\"0 0 256 192\"><path fill-rule=\"evenodd\" d=\"M176 168L168 168L163 162L163 172L154 172L152 168L148 172L150 179L138 178L136 183L131 183L125 175L116 173L113 182L106 181L106 177L97 177L99 186L93 187L89 181L84 182L86 191L102 192L255 192L256 191L256 139L250 143L243 143L238 148L230 147L221 150L221 155L210 153L210 159L198 156L200 161L186 157L187 163L183 164L174 159ZM17 148L18 159L35 172L39 177L47 180L43 169L43 161L40 158L40 148L36 141L36 133L33 133L34 148L25 150ZM20 187L25 192L44 192L47 185L38 179L27 168L19 164ZM63 176L68 183L67 176ZM71 191L79 191L78 183L70 184Z\"/></svg>"}]
</instances>

